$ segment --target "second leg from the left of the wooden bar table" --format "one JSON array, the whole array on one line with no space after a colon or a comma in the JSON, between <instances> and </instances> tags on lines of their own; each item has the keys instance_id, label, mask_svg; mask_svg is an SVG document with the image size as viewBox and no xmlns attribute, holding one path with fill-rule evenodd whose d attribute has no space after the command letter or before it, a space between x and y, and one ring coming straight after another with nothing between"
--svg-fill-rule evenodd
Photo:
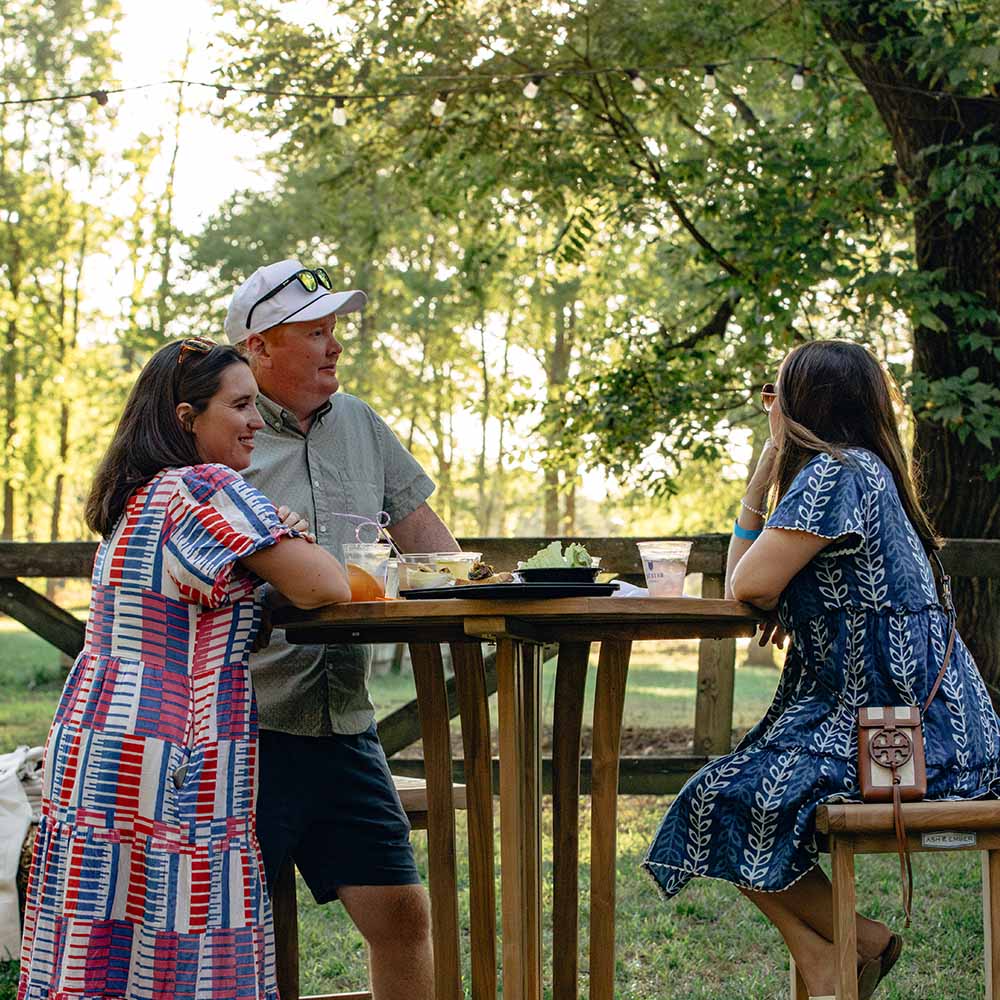
<instances>
[{"instance_id":1,"label":"second leg from the left of the wooden bar table","mask_svg":"<svg viewBox=\"0 0 1000 1000\"><path fill-rule=\"evenodd\" d=\"M472 951L472 1000L496 1000L497 917L493 860L493 750L490 703L483 649L478 643L451 647L455 668L462 745L465 750L465 800L469 827L469 943Z\"/></svg>"}]
</instances>

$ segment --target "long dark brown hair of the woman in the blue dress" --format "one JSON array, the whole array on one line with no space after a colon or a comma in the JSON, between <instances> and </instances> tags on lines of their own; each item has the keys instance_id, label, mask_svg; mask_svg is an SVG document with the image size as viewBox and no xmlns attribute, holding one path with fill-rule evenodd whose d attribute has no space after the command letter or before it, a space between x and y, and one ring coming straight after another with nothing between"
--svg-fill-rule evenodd
<instances>
[{"instance_id":1,"label":"long dark brown hair of the woman in the blue dress","mask_svg":"<svg viewBox=\"0 0 1000 1000\"><path fill-rule=\"evenodd\" d=\"M777 499L814 455L826 452L843 460L843 449L866 448L888 466L924 548L941 547L920 504L916 466L907 460L899 437L899 387L871 351L845 340L796 347L781 365L775 405L783 418L781 440L775 442Z\"/></svg>"}]
</instances>

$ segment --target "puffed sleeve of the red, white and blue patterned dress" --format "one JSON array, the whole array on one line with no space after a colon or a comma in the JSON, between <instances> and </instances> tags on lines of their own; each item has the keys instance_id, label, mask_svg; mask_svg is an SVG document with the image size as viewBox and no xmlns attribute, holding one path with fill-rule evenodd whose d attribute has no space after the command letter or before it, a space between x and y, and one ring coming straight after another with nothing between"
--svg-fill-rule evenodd
<instances>
[{"instance_id":1,"label":"puffed sleeve of the red, white and blue patterned dress","mask_svg":"<svg viewBox=\"0 0 1000 1000\"><path fill-rule=\"evenodd\" d=\"M182 600L218 608L230 599L238 560L298 534L281 523L263 493L232 469L192 466L170 500L164 568Z\"/></svg>"}]
</instances>

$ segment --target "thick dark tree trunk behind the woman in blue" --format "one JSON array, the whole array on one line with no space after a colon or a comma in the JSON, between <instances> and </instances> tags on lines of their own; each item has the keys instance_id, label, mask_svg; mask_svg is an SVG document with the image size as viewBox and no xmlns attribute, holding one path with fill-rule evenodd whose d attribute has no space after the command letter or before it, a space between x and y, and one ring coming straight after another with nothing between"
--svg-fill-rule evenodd
<instances>
[{"instance_id":1,"label":"thick dark tree trunk behind the woman in blue","mask_svg":"<svg viewBox=\"0 0 1000 1000\"><path fill-rule=\"evenodd\" d=\"M981 306L1000 310L1000 209L980 204L973 218L956 228L943 198L932 200L931 171L957 148L1000 142L995 98L964 97L945 91L946 83L921 78L908 66L917 34L908 12L889 0L866 0L821 8L823 23L845 60L870 93L885 122L896 162L913 199L918 268L934 275L945 292L976 296ZM986 136L986 138L983 138ZM950 307L934 309L943 331L918 326L913 338L913 371L928 381L954 378L968 368L978 381L1000 385L1000 363L988 350L960 344L967 327ZM1000 341L1000 325L978 333ZM915 457L927 512L937 531L952 538L1000 537L1000 478L989 482L984 466L996 455L970 435L932 422L918 405ZM1000 580L955 581L958 627L1000 704Z\"/></svg>"}]
</instances>

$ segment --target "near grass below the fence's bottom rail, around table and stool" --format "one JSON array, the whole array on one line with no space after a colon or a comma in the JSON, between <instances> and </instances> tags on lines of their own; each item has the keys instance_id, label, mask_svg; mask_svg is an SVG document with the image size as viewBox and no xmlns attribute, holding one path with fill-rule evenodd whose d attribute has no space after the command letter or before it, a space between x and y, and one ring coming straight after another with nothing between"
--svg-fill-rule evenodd
<instances>
[{"instance_id":1,"label":"near grass below the fence's bottom rail, around table and stool","mask_svg":"<svg viewBox=\"0 0 1000 1000\"><path fill-rule=\"evenodd\" d=\"M589 826L589 799L581 810ZM660 899L639 870L666 800L626 796L620 800L618 830L618 928L616 1000L785 1000L788 955L777 931L732 887L699 879L674 900ZM467 879L459 814L459 881ZM546 850L551 846L545 831ZM418 862L426 873L425 838L414 834ZM499 843L497 845L499 851ZM582 837L581 858L589 842ZM917 880L912 928L903 957L877 994L878 1000L974 1000L983 995L982 912L979 856L950 854L914 858ZM860 905L868 916L902 928L899 863L894 857L858 859ZM549 892L549 869L545 880ZM580 872L586 907L589 870ZM499 886L498 886L499 890ZM461 899L461 897L460 897ZM465 900L460 920L467 924ZM499 926L499 914L498 914ZM299 884L299 941L302 992L361 988L365 980L360 936L336 904L317 906ZM545 926L545 953L551 927ZM586 912L581 918L581 982L586 996ZM466 963L468 956L465 956ZM468 965L465 968L468 991ZM545 972L550 981L550 970ZM548 995L548 994L546 994Z\"/></svg>"}]
</instances>

